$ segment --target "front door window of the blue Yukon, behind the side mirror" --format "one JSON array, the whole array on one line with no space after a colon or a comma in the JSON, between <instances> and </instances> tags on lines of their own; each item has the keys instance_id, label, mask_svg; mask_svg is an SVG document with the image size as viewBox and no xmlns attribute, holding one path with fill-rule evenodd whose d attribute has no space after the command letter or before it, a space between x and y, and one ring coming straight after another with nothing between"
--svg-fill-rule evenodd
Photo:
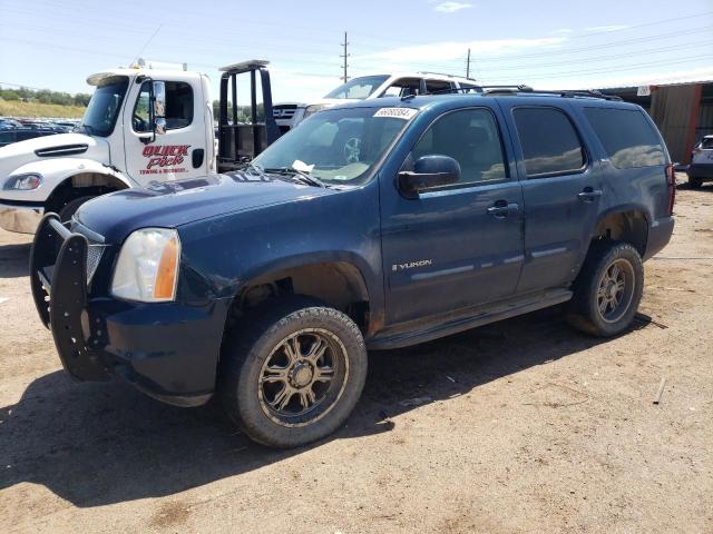
<instances>
[{"instance_id":1,"label":"front door window of the blue Yukon, behind the side mirror","mask_svg":"<svg viewBox=\"0 0 713 534\"><path fill-rule=\"evenodd\" d=\"M507 178L498 125L488 109L461 109L439 117L411 155L416 161L431 154L458 161L461 171L458 185Z\"/></svg>"}]
</instances>

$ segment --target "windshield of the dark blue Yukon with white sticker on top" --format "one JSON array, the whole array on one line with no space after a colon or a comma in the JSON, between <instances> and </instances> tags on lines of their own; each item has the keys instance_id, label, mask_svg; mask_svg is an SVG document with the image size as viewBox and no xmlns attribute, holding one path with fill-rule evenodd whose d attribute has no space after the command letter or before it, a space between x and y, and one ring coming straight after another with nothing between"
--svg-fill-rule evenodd
<instances>
[{"instance_id":1,"label":"windshield of the dark blue Yukon with white sticker on top","mask_svg":"<svg viewBox=\"0 0 713 534\"><path fill-rule=\"evenodd\" d=\"M416 113L411 108L326 109L281 137L253 165L260 169L309 168L311 176L328 185L363 184Z\"/></svg>"}]
</instances>

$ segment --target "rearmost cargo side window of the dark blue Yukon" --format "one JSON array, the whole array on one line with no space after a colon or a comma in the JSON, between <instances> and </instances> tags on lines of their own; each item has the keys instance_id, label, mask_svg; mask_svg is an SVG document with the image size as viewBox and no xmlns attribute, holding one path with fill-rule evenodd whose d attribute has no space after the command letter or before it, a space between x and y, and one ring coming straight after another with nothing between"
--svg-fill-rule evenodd
<instances>
[{"instance_id":1,"label":"rearmost cargo side window of the dark blue Yukon","mask_svg":"<svg viewBox=\"0 0 713 534\"><path fill-rule=\"evenodd\" d=\"M618 169L664 165L661 140L636 109L585 108L584 115Z\"/></svg>"}]
</instances>

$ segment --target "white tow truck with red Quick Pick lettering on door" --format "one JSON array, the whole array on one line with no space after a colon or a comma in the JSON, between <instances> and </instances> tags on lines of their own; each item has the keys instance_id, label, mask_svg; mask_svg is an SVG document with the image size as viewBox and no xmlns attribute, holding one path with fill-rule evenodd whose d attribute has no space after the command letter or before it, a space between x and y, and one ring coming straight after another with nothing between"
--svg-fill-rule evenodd
<instances>
[{"instance_id":1,"label":"white tow truck with red Quick Pick lettering on door","mask_svg":"<svg viewBox=\"0 0 713 534\"><path fill-rule=\"evenodd\" d=\"M206 75L146 63L91 75L87 82L96 89L75 132L0 148L0 227L33 234L46 211L66 221L99 195L240 167L280 137L266 65L221 69L217 139ZM238 123L232 105L241 73L251 75L248 125ZM257 76L264 122L257 121Z\"/></svg>"}]
</instances>

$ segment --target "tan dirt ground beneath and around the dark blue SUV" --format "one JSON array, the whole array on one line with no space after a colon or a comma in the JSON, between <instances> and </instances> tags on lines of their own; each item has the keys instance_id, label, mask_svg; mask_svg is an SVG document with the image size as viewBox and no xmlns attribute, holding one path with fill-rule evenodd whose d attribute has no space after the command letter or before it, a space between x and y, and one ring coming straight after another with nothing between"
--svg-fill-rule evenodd
<instances>
[{"instance_id":1,"label":"tan dirt ground beneath and around the dark blue SUV","mask_svg":"<svg viewBox=\"0 0 713 534\"><path fill-rule=\"evenodd\" d=\"M348 426L289 452L215 405L71 382L29 239L0 233L0 532L711 533L713 186L676 212L632 332L546 310L373 353Z\"/></svg>"}]
</instances>

